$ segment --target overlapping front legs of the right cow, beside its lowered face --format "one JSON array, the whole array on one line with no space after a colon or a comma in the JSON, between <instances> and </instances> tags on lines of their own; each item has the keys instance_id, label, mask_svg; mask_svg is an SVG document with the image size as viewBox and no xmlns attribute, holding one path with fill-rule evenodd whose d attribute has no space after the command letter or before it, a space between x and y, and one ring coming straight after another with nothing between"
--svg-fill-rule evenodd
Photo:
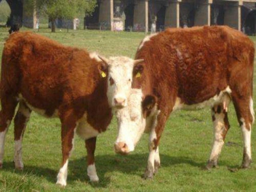
<instances>
[{"instance_id":1,"label":"overlapping front legs of the right cow, beside its lowered face","mask_svg":"<svg viewBox=\"0 0 256 192\"><path fill-rule=\"evenodd\" d=\"M148 142L148 148L149 148L148 163L147 163L147 168L144 174L145 179L152 179L154 173L157 172L160 166L158 145L159 145L159 140L161 138L161 134L164 129L166 118L168 116L164 114L165 113L161 112L159 115L156 115L153 127L150 132L149 142ZM156 168L155 168L155 165L156 165Z\"/></svg>"}]
</instances>

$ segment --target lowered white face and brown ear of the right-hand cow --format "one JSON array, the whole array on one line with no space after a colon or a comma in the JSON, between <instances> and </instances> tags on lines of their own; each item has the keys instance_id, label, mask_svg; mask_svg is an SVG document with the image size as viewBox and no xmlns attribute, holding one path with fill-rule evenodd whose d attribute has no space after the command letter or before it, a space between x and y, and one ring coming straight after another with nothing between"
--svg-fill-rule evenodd
<instances>
[{"instance_id":1,"label":"lowered white face and brown ear of the right-hand cow","mask_svg":"<svg viewBox=\"0 0 256 192\"><path fill-rule=\"evenodd\" d=\"M140 89L132 89L127 100L127 107L118 109L118 136L115 142L115 151L120 154L128 154L140 140L143 132L150 129L150 123L156 110L156 99L148 95L142 100L143 94ZM144 103L144 102L147 103Z\"/></svg>"}]
</instances>

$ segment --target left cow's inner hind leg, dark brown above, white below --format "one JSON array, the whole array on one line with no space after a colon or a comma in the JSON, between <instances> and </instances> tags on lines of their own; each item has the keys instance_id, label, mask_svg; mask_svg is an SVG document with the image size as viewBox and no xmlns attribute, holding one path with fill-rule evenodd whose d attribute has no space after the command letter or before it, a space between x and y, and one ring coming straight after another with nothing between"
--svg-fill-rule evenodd
<instances>
[{"instance_id":1,"label":"left cow's inner hind leg, dark brown above, white below","mask_svg":"<svg viewBox=\"0 0 256 192\"><path fill-rule=\"evenodd\" d=\"M31 110L22 101L19 102L19 109L14 118L14 164L15 168L22 170L22 139L29 120Z\"/></svg>"}]
</instances>

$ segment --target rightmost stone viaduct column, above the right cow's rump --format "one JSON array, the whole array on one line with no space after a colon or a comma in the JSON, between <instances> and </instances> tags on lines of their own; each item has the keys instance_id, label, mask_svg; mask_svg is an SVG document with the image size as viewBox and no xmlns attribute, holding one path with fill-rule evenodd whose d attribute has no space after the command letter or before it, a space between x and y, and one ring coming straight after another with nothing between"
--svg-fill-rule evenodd
<instances>
[{"instance_id":1,"label":"rightmost stone viaduct column, above the right cow's rump","mask_svg":"<svg viewBox=\"0 0 256 192\"><path fill-rule=\"evenodd\" d=\"M224 24L241 31L241 6L243 1L228 2L225 10Z\"/></svg>"}]
</instances>

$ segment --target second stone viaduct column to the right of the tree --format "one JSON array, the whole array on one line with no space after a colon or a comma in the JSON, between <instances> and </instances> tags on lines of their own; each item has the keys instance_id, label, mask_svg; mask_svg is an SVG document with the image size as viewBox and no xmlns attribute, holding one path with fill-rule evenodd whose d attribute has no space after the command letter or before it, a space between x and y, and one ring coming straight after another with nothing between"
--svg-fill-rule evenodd
<instances>
[{"instance_id":1,"label":"second stone viaduct column to the right of the tree","mask_svg":"<svg viewBox=\"0 0 256 192\"><path fill-rule=\"evenodd\" d=\"M134 31L148 33L148 0L135 0L134 4Z\"/></svg>"}]
</instances>

